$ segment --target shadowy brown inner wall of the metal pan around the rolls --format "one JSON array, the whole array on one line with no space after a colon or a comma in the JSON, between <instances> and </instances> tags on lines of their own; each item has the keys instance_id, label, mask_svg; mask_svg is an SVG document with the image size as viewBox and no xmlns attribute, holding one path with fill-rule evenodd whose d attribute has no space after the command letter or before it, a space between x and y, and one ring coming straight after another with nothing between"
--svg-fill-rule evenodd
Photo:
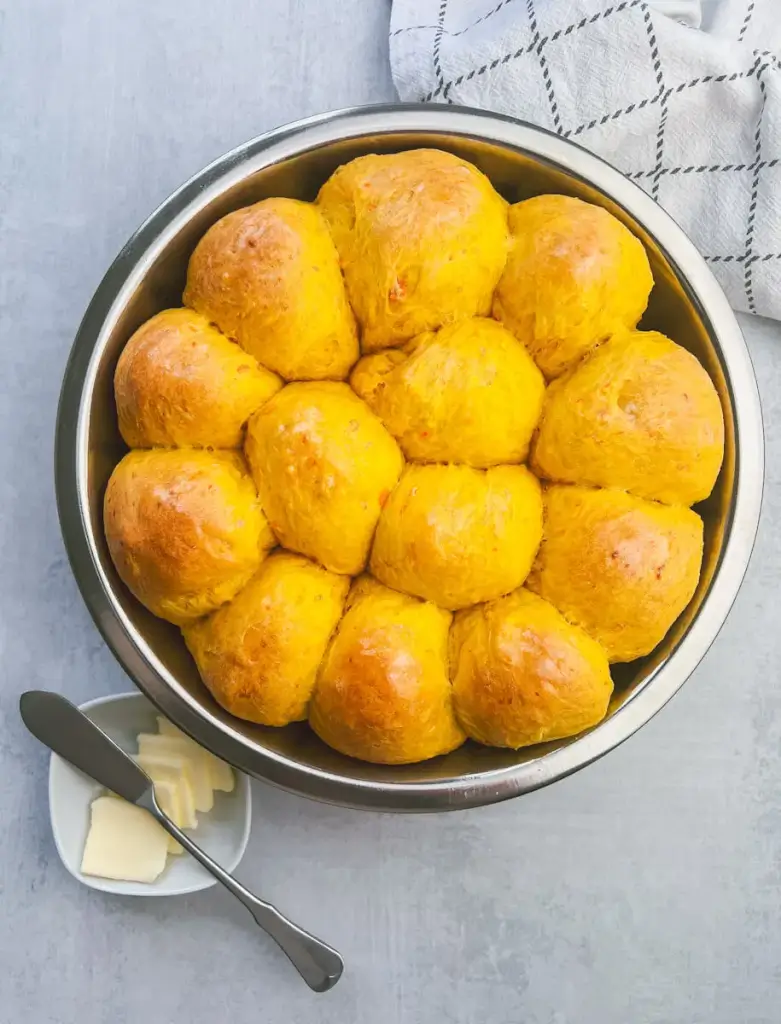
<instances>
[{"instance_id":1,"label":"shadowy brown inner wall of the metal pan around the rolls","mask_svg":"<svg viewBox=\"0 0 781 1024\"><path fill-rule=\"evenodd\" d=\"M641 327L669 335L689 348L707 368L719 390L726 423L726 458L713 495L697 508L705 522L705 558L699 589L689 608L662 645L648 658L614 667L615 695L609 716L630 700L639 688L652 685L653 676L674 655L677 643L696 616L718 566L730 529L735 486L734 418L722 353L677 267L653 239L653 224L641 225L608 196L562 168L541 162L531 154L482 139L448 133L390 132L318 145L291 159L248 172L234 180L209 204L198 210L171 238L165 250L145 268L138 286L127 298L111 332L98 367L88 417L88 505L97 554L103 572L131 625L178 684L209 715L240 732L255 748L285 759L353 780L390 783L446 781L508 768L539 758L548 751L577 739L529 748L519 752L493 750L468 742L446 757L424 764L382 767L342 757L320 742L304 724L284 729L240 722L223 712L201 683L178 630L146 612L125 590L111 563L102 540L103 490L112 469L126 449L117 428L112 381L122 347L133 331L161 309L181 304L187 259L196 243L219 217L238 207L272 196L312 200L332 171L345 161L366 153L390 153L418 146L448 150L476 164L510 202L540 193L563 193L604 206L619 217L646 245L655 286ZM609 717L608 716L608 717ZM597 726L600 728L601 726ZM258 771L262 774L262 768Z\"/></svg>"}]
</instances>

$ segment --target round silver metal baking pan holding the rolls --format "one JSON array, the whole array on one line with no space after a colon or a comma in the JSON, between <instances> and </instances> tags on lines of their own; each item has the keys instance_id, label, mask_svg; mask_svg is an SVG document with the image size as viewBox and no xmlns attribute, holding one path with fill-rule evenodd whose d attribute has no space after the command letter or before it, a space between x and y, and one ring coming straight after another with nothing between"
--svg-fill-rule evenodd
<instances>
[{"instance_id":1,"label":"round silver metal baking pan holding the rolls","mask_svg":"<svg viewBox=\"0 0 781 1024\"><path fill-rule=\"evenodd\" d=\"M654 653L615 667L608 717L570 740L520 752L467 743L420 765L344 758L304 725L266 729L211 698L174 627L123 587L102 534L102 495L124 446L112 381L123 345L144 319L181 302L197 241L230 210L268 196L311 200L340 164L365 153L437 146L471 160L511 202L544 191L598 203L645 243L655 278L641 326L670 335L710 373L727 427L725 464L705 522L702 578ZM724 623L756 532L764 475L760 400L740 329L704 260L637 185L584 150L511 118L457 106L397 105L288 125L215 161L174 193L127 243L90 303L66 371L56 432L56 493L84 599L128 675L181 728L241 769L318 800L381 810L450 810L539 788L601 757L647 722L691 675Z\"/></svg>"}]
</instances>

